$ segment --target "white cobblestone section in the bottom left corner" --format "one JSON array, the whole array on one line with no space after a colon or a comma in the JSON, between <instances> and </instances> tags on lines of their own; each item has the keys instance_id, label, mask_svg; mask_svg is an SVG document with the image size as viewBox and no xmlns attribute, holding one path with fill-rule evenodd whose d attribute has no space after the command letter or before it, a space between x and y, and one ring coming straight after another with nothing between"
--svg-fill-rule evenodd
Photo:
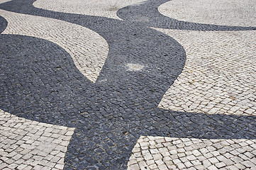
<instances>
[{"instance_id":1,"label":"white cobblestone section in the bottom left corner","mask_svg":"<svg viewBox=\"0 0 256 170\"><path fill-rule=\"evenodd\" d=\"M73 133L0 110L0 169L63 169Z\"/></svg>"}]
</instances>

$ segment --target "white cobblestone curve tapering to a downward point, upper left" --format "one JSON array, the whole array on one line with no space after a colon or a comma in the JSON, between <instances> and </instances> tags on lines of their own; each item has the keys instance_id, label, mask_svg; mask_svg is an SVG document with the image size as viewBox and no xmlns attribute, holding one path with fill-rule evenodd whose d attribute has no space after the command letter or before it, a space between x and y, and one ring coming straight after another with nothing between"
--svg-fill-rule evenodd
<instances>
[{"instance_id":1,"label":"white cobblestone curve tapering to a downward point, upper left","mask_svg":"<svg viewBox=\"0 0 256 170\"><path fill-rule=\"evenodd\" d=\"M95 82L108 55L108 43L88 28L52 18L0 10L8 26L3 34L33 36L55 42L66 50L85 77Z\"/></svg>"}]
</instances>

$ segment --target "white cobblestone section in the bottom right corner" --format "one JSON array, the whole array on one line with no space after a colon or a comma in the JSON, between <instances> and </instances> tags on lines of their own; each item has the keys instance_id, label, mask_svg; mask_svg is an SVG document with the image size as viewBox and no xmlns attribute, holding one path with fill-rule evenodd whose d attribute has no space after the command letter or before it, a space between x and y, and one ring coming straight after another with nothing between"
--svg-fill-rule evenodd
<instances>
[{"instance_id":1,"label":"white cobblestone section in the bottom right corner","mask_svg":"<svg viewBox=\"0 0 256 170\"><path fill-rule=\"evenodd\" d=\"M250 151L240 153L240 147L237 147L237 144L245 145L245 143L250 143L254 145L256 140L208 140L208 139L194 139L194 138L174 138L174 137L148 137L148 142L151 145L162 144L162 147L159 149L142 149L140 147L140 142L145 140L145 136L139 138L136 143L136 151L132 152L130 160L128 162L128 169L133 169L132 165L139 162L143 162L143 169L221 169L223 167L229 168L240 168L247 167L251 168L256 166L255 157L256 153L253 152L254 149L249 149ZM157 141L162 141L156 142ZM201 146L197 149L192 149L191 152L179 153L176 145L180 145L183 142L187 142L189 147L194 148L194 146ZM165 144L169 144L169 147L164 147ZM207 143L205 145L201 145ZM213 147L219 144L221 147ZM171 146L171 147L170 147ZM206 149L207 148L207 149ZM226 150L226 154L221 155L221 150ZM133 149L134 150L134 149ZM168 150L170 156L163 157L163 150ZM174 152L176 151L176 152ZM238 152L240 154L230 154ZM144 154L143 154L144 153ZM139 159L136 155L140 155ZM204 156L202 156L204 155ZM250 155L247 157L246 155ZM173 157L174 156L174 157ZM176 157L176 158L175 158ZM134 166L137 167L137 166Z\"/></svg>"}]
</instances>

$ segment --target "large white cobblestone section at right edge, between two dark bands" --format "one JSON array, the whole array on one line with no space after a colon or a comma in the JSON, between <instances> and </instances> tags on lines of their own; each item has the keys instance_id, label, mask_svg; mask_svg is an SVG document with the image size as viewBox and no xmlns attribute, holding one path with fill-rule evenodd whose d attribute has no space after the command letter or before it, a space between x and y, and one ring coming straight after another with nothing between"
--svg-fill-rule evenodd
<instances>
[{"instance_id":1,"label":"large white cobblestone section at right edge, between two dark bands","mask_svg":"<svg viewBox=\"0 0 256 170\"><path fill-rule=\"evenodd\" d=\"M182 73L159 104L172 111L256 115L256 30L157 29L186 51Z\"/></svg>"}]
</instances>

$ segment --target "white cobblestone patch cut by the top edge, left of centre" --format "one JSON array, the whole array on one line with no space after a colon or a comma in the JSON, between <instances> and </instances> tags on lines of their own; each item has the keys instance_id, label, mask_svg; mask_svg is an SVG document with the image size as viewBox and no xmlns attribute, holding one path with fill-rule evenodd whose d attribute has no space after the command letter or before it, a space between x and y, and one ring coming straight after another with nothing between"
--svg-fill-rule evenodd
<instances>
[{"instance_id":1,"label":"white cobblestone patch cut by the top edge, left of centre","mask_svg":"<svg viewBox=\"0 0 256 170\"><path fill-rule=\"evenodd\" d=\"M120 19L116 16L120 8L140 4L143 1L146 0L38 0L33 3L33 6L63 13Z\"/></svg>"}]
</instances>

